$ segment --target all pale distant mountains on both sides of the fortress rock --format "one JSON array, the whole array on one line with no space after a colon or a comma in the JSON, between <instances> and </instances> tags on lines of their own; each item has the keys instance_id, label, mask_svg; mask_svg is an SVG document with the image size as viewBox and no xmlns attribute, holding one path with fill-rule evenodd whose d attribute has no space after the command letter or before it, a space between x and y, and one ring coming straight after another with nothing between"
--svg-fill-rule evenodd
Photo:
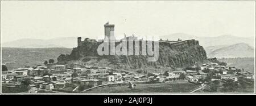
<instances>
[{"instance_id":1,"label":"all pale distant mountains on both sides of the fortress rock","mask_svg":"<svg viewBox=\"0 0 256 106\"><path fill-rule=\"evenodd\" d=\"M86 37L82 37L82 40ZM185 33L174 33L160 36L163 40L177 41L177 39L196 39L205 48L208 57L253 57L254 37L236 37L222 35L218 37L197 37ZM50 47L77 47L77 37L61 37L53 39L19 39L2 43L2 47L18 48L50 48Z\"/></svg>"}]
</instances>

